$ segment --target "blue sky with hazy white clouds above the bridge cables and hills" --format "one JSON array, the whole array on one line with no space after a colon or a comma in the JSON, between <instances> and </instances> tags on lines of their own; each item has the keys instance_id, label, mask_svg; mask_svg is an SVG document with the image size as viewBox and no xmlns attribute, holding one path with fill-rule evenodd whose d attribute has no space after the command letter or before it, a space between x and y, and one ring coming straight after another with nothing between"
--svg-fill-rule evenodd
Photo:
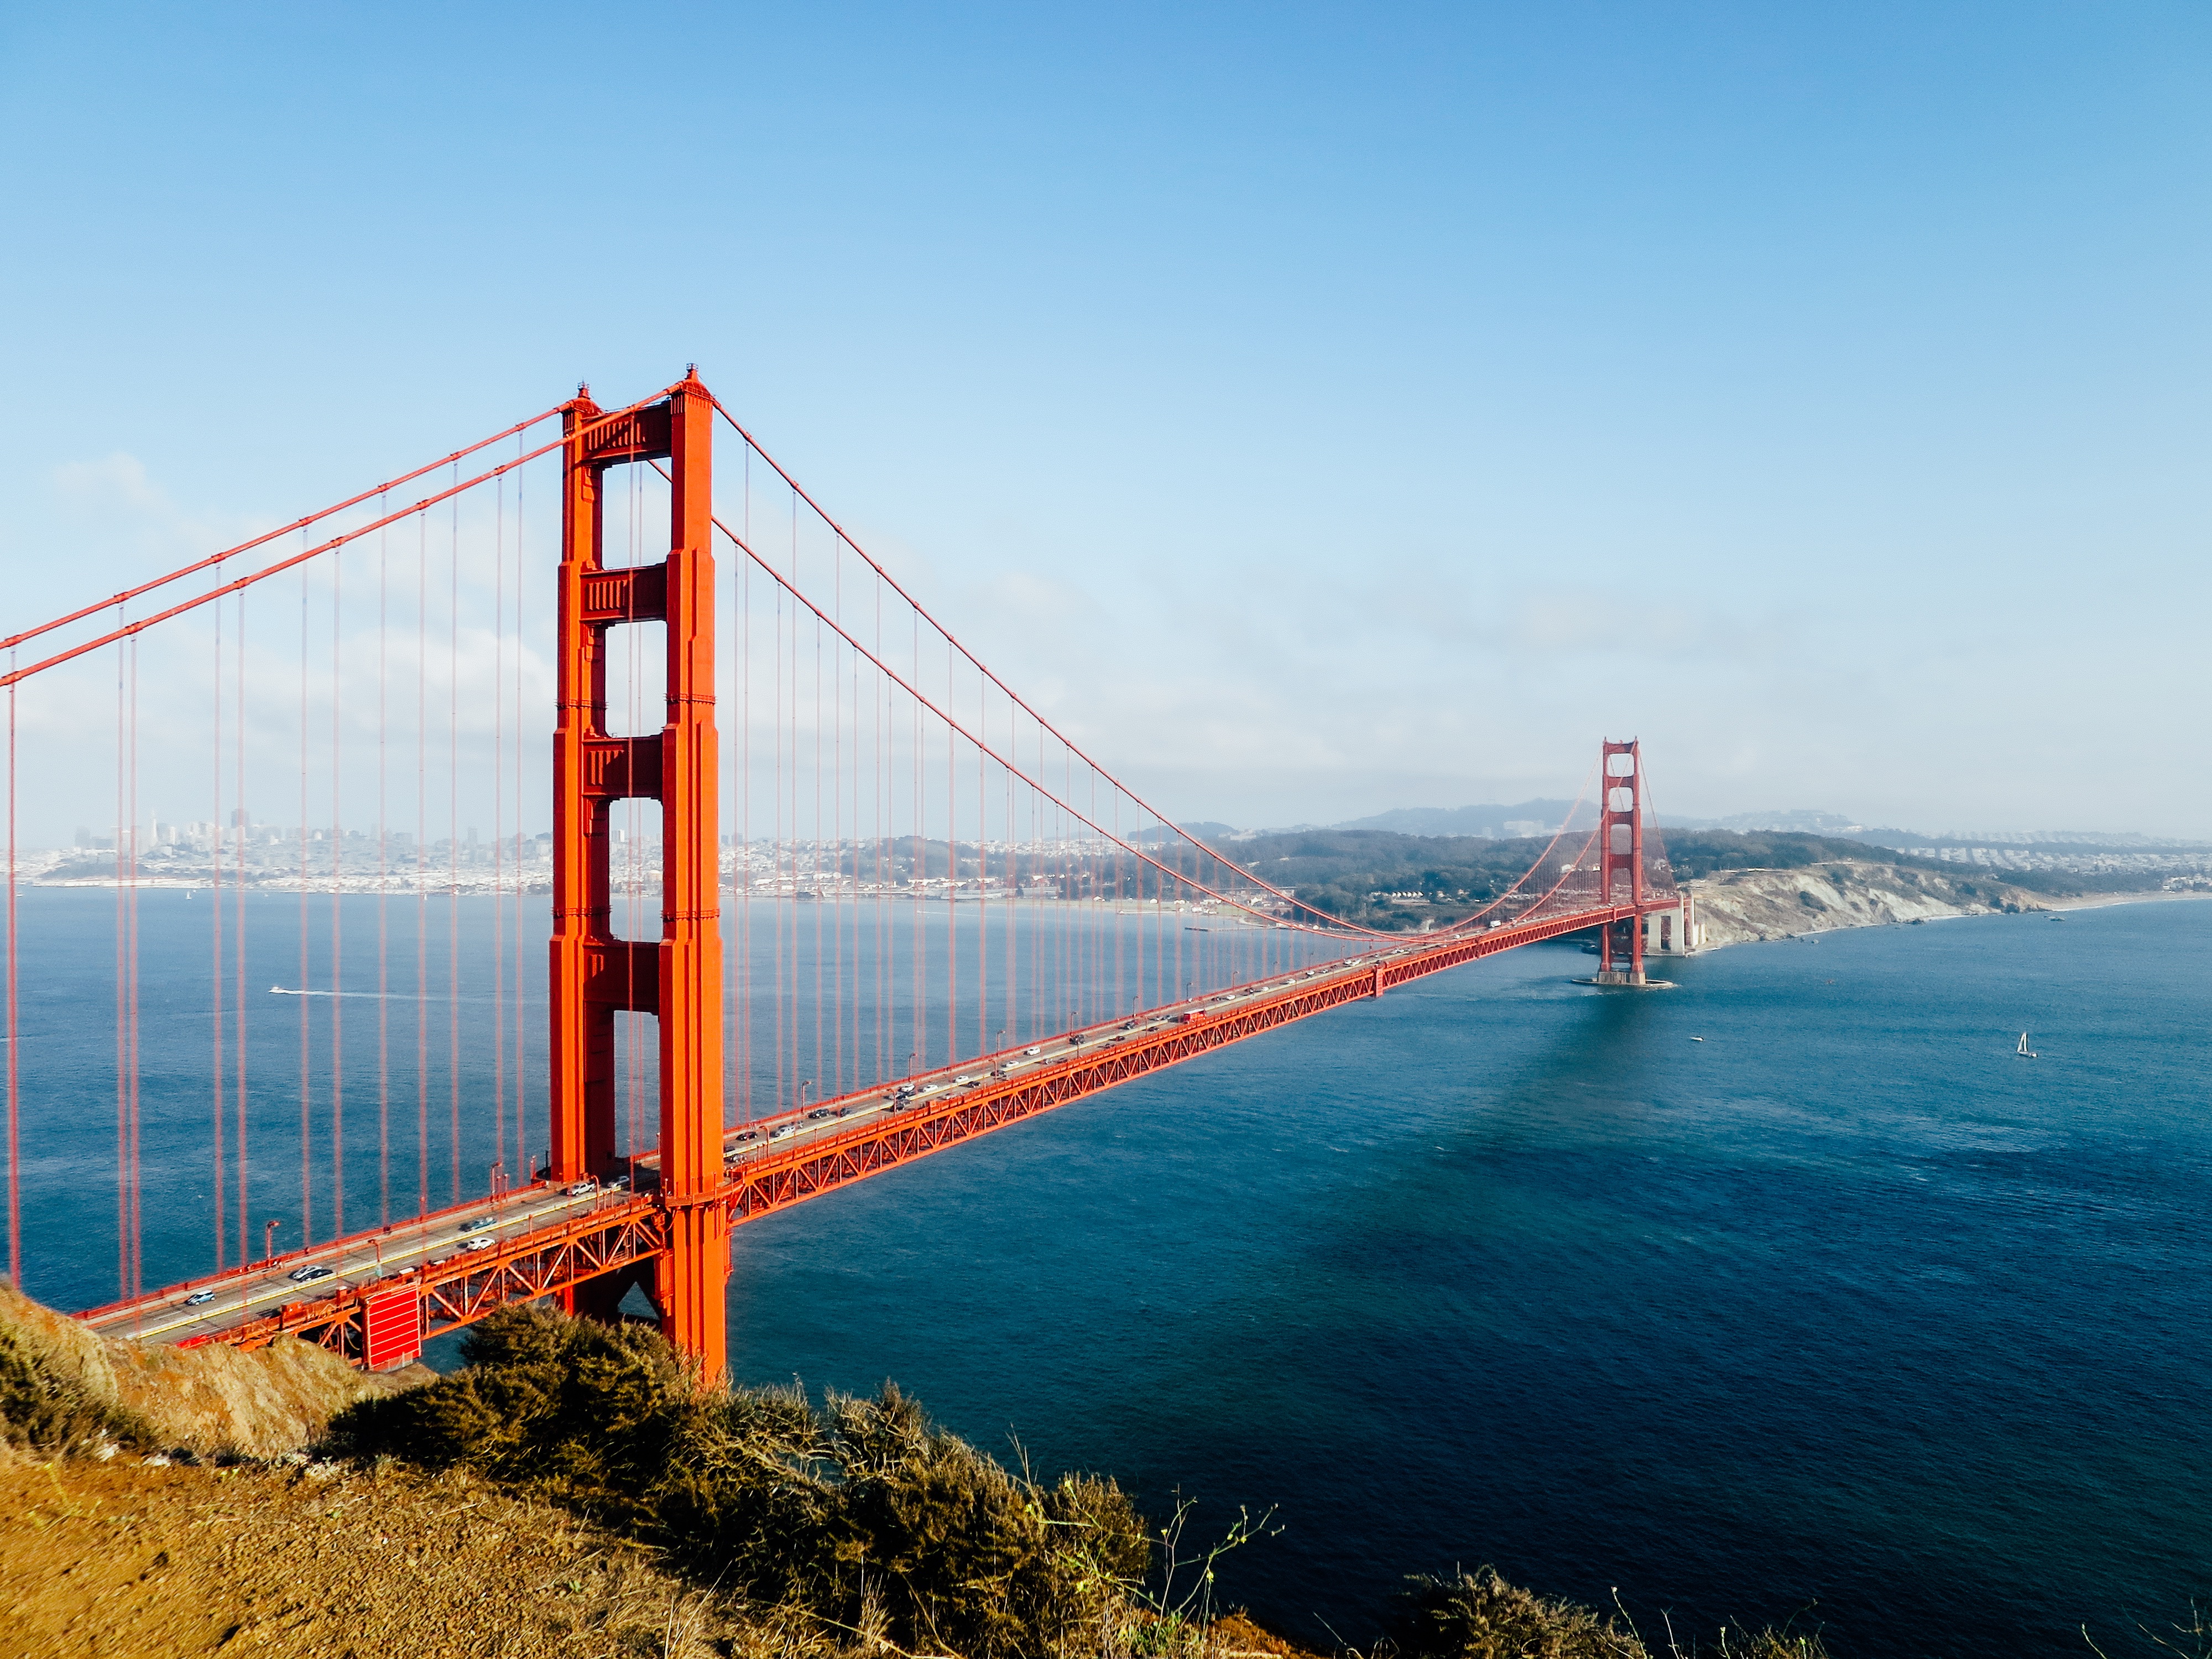
<instances>
[{"instance_id":1,"label":"blue sky with hazy white clouds above the bridge cables and hills","mask_svg":"<svg viewBox=\"0 0 2212 1659\"><path fill-rule=\"evenodd\" d=\"M2212 11L11 7L9 626L697 363L1179 818L2212 836Z\"/></svg>"}]
</instances>

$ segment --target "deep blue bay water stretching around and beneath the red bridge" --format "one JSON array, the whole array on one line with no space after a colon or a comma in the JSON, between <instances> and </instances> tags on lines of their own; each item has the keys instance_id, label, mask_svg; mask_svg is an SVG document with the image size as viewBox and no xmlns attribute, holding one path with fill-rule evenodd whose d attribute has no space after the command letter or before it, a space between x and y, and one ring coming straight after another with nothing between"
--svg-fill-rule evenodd
<instances>
[{"instance_id":1,"label":"deep blue bay water stretching around and beneath the red bridge","mask_svg":"<svg viewBox=\"0 0 2212 1659\"><path fill-rule=\"evenodd\" d=\"M513 911L385 907L378 1002L376 900L307 907L305 975L299 902L248 909L257 1252L303 1208L327 1237L341 1186L347 1225L482 1190L538 1135L535 914L493 1002ZM113 914L24 894L27 1287L64 1307L119 1272ZM175 894L139 927L164 1283L212 1254L210 942ZM1192 1535L1267 1513L1221 1588L1318 1639L1480 1562L1617 1588L1648 1635L1796 1619L1847 1657L2081 1655L2088 1624L2119 1659L2212 1597L2212 905L1747 945L1641 995L1584 971L1493 958L748 1225L732 1365L896 1378L1037 1469L1194 1500ZM268 987L303 982L354 995L301 1022Z\"/></svg>"}]
</instances>

